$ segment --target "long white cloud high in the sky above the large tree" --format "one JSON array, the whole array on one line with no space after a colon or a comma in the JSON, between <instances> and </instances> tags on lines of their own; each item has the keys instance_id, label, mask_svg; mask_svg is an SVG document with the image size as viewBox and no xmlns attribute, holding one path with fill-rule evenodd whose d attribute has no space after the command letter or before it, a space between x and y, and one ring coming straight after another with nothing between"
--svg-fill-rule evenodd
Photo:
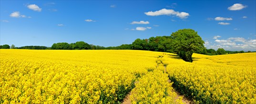
<instances>
[{"instance_id":1,"label":"long white cloud high in the sky above the large tree","mask_svg":"<svg viewBox=\"0 0 256 104\"><path fill-rule=\"evenodd\" d=\"M145 12L147 16L160 16L160 15L175 15L176 17L180 18L187 18L189 16L189 13L186 12L178 12L174 11L173 9L161 9L158 11L149 11Z\"/></svg>"}]
</instances>

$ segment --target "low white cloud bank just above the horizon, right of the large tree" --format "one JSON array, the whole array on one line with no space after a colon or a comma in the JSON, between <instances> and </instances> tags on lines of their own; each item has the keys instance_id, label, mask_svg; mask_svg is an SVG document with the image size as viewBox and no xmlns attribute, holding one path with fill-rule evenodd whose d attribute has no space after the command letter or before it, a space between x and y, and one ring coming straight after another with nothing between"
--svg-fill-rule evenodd
<instances>
[{"instance_id":1,"label":"low white cloud bank just above the horizon, right of the large tree","mask_svg":"<svg viewBox=\"0 0 256 104\"><path fill-rule=\"evenodd\" d=\"M256 39L247 40L243 37L230 37L226 40L215 40L216 44L209 45L207 48L225 48L231 51L256 51Z\"/></svg>"}]
</instances>

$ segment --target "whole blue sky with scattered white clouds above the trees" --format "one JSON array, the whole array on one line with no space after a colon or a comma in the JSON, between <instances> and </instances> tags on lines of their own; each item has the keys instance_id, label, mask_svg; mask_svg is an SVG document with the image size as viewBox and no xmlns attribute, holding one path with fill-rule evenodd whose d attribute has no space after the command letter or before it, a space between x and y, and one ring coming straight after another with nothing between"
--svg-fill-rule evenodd
<instances>
[{"instance_id":1,"label":"whole blue sky with scattered white clouds above the trees","mask_svg":"<svg viewBox=\"0 0 256 104\"><path fill-rule=\"evenodd\" d=\"M0 0L0 44L100 46L191 28L207 49L256 51L256 0Z\"/></svg>"}]
</instances>

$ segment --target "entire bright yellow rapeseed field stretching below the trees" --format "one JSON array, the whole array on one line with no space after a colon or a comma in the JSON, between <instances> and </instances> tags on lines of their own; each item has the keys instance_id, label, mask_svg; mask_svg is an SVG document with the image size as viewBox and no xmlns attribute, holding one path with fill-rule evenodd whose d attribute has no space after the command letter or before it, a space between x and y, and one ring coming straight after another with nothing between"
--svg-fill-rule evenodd
<instances>
[{"instance_id":1,"label":"entire bright yellow rapeseed field stretching below the trees","mask_svg":"<svg viewBox=\"0 0 256 104\"><path fill-rule=\"evenodd\" d=\"M0 103L178 104L256 102L256 53L185 62L135 50L0 50ZM171 83L168 82L171 79ZM173 88L174 87L174 88Z\"/></svg>"}]
</instances>

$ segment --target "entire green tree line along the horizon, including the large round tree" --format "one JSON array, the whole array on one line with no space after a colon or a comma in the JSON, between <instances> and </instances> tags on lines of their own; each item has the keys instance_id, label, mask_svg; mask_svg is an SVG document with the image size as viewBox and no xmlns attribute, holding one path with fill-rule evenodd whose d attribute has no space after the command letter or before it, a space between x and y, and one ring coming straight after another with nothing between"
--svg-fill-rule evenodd
<instances>
[{"instance_id":1,"label":"entire green tree line along the horizon, including the large round tree","mask_svg":"<svg viewBox=\"0 0 256 104\"><path fill-rule=\"evenodd\" d=\"M202 38L192 29L181 29L170 36L156 36L149 39L136 39L132 44L122 44L115 47L103 47L99 45L88 44L85 42L76 43L53 43L51 47L46 46L23 46L15 47L14 45L0 45L0 49L37 49L37 50L147 50L156 52L171 52L178 54L184 61L192 62L192 54L200 53L206 55L220 55L231 53L243 53L225 51L219 48L206 49ZM250 52L250 51L248 51Z\"/></svg>"}]
</instances>

